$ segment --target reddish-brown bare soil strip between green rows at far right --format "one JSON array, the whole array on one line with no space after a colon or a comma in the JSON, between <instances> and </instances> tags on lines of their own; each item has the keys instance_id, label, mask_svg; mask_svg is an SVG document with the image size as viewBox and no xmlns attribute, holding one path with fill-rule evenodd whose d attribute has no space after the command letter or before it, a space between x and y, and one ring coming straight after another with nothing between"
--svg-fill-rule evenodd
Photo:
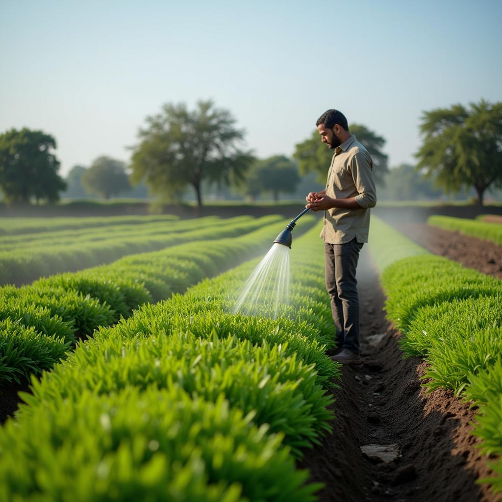
<instances>
[{"instance_id":1,"label":"reddish-brown bare soil strip between green rows at far right","mask_svg":"<svg viewBox=\"0 0 502 502\"><path fill-rule=\"evenodd\" d=\"M502 246L499 244L425 223L399 223L394 226L436 255L502 279Z\"/></svg>"}]
</instances>

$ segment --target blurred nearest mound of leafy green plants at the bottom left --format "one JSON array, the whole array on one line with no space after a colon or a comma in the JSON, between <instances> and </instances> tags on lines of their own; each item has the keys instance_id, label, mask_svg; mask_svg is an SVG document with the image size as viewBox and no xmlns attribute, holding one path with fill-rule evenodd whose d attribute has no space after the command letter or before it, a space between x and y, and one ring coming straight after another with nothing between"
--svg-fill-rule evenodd
<instances>
[{"instance_id":1,"label":"blurred nearest mound of leafy green plants at the bottom left","mask_svg":"<svg viewBox=\"0 0 502 502\"><path fill-rule=\"evenodd\" d=\"M0 432L0 497L314 500L282 436L252 419L177 386L84 391Z\"/></svg>"}]
</instances>

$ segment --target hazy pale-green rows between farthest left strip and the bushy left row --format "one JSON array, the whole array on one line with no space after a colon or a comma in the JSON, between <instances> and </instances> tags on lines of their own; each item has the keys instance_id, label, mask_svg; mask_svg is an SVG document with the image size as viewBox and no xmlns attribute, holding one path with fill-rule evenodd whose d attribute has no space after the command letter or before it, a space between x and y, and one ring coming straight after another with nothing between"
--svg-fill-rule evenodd
<instances>
[{"instance_id":1,"label":"hazy pale-green rows between farthest left strip and the bushy left row","mask_svg":"<svg viewBox=\"0 0 502 502\"><path fill-rule=\"evenodd\" d=\"M210 216L5 236L0 241L0 284L28 284L41 276L81 270L125 255L205 240L214 235L233 237L259 226L258 220L250 216L223 220Z\"/></svg>"}]
</instances>

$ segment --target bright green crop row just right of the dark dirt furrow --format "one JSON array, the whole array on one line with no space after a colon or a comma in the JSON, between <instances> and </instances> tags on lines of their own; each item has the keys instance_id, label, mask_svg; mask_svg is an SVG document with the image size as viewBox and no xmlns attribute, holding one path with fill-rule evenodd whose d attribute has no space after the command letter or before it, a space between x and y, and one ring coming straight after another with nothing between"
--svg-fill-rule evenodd
<instances>
[{"instance_id":1,"label":"bright green crop row just right of the dark dirt furrow","mask_svg":"<svg viewBox=\"0 0 502 502\"><path fill-rule=\"evenodd\" d=\"M382 221L373 218L371 232L377 263L396 249L415 254L415 244ZM398 255L381 270L401 347L430 363L423 376L430 391L451 389L479 406L474 433L481 450L502 454L502 282L442 257ZM492 468L498 477L486 481L502 491L502 461Z\"/></svg>"}]
</instances>

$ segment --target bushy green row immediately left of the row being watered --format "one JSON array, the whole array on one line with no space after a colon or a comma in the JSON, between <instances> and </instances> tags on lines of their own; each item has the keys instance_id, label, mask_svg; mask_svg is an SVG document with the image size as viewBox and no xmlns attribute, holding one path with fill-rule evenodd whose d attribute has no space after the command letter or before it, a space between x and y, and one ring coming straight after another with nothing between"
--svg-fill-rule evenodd
<instances>
[{"instance_id":1,"label":"bushy green row immediately left of the row being watered","mask_svg":"<svg viewBox=\"0 0 502 502\"><path fill-rule=\"evenodd\" d=\"M305 218L300 232L312 225ZM257 219L234 238L185 243L153 253L122 258L110 265L40 279L30 286L0 288L0 382L20 382L30 373L50 368L77 338L85 339L133 309L179 293L256 256L284 226L279 216ZM230 227L229 227L230 228ZM213 237L217 236L214 235ZM228 232L225 232L228 234ZM62 342L63 340L63 342Z\"/></svg>"}]
</instances>

